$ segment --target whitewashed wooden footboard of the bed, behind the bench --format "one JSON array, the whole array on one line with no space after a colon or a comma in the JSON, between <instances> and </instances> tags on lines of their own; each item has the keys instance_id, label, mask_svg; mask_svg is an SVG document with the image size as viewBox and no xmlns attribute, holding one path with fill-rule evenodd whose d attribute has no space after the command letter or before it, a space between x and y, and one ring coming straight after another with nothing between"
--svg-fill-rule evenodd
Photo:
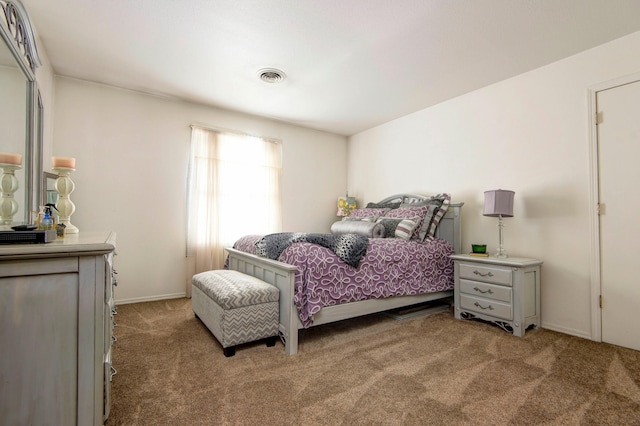
<instances>
[{"instance_id":1,"label":"whitewashed wooden footboard of the bed, behind the bench","mask_svg":"<svg viewBox=\"0 0 640 426\"><path fill-rule=\"evenodd\" d=\"M233 248L226 250L229 253L229 269L251 275L278 287L280 290L280 338L287 355L297 354L300 320L293 303L296 267Z\"/></svg>"}]
</instances>

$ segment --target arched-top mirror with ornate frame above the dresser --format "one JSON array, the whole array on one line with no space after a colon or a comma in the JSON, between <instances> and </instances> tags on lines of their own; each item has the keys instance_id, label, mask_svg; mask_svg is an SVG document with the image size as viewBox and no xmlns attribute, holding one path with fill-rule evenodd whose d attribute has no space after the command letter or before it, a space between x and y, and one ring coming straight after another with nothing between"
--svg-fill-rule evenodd
<instances>
[{"instance_id":1,"label":"arched-top mirror with ornate frame above the dresser","mask_svg":"<svg viewBox=\"0 0 640 426\"><path fill-rule=\"evenodd\" d=\"M22 155L13 222L29 223L42 175L42 103L35 77L40 58L22 3L0 0L0 9L0 151Z\"/></svg>"}]
</instances>

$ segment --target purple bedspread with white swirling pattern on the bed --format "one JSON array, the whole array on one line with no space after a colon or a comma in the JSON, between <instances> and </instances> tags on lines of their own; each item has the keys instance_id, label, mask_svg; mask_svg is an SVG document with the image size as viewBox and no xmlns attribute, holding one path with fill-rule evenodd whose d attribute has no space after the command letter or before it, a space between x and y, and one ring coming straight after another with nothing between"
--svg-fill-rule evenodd
<instances>
[{"instance_id":1,"label":"purple bedspread with white swirling pattern on the bed","mask_svg":"<svg viewBox=\"0 0 640 426\"><path fill-rule=\"evenodd\" d=\"M242 237L233 247L256 254L261 237ZM306 242L290 245L278 260L297 267L294 303L302 324L309 327L323 306L453 289L451 254L453 248L442 239L370 238L357 268L330 249Z\"/></svg>"}]
</instances>

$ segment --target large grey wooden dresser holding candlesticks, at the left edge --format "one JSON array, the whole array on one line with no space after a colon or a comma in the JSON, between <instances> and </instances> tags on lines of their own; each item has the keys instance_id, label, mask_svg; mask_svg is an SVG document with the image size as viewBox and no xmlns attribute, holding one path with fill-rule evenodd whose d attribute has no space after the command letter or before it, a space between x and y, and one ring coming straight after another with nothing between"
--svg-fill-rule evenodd
<instances>
[{"instance_id":1,"label":"large grey wooden dresser holding candlesticks, at the left edge","mask_svg":"<svg viewBox=\"0 0 640 426\"><path fill-rule=\"evenodd\" d=\"M0 245L0 424L109 415L115 233Z\"/></svg>"}]
</instances>

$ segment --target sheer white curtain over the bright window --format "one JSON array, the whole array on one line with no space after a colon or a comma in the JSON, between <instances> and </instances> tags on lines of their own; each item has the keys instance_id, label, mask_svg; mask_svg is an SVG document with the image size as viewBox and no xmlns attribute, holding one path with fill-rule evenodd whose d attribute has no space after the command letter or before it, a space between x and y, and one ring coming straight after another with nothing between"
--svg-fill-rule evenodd
<instances>
[{"instance_id":1,"label":"sheer white curtain over the bright window","mask_svg":"<svg viewBox=\"0 0 640 426\"><path fill-rule=\"evenodd\" d=\"M187 295L190 277L221 269L239 237L280 231L281 170L277 141L191 126Z\"/></svg>"}]
</instances>

